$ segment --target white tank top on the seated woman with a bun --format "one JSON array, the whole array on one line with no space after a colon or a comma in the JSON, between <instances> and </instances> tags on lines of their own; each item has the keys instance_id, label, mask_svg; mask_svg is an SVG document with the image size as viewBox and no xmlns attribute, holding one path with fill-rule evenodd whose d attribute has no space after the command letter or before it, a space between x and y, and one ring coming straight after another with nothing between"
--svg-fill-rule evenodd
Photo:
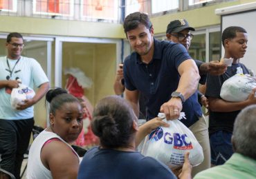
<instances>
[{"instance_id":1,"label":"white tank top on the seated woman with a bun","mask_svg":"<svg viewBox=\"0 0 256 179\"><path fill-rule=\"evenodd\" d=\"M30 149L29 149L29 154L28 154L28 168L27 168L27 179L52 179L53 176L51 174L51 171L48 170L46 167L44 167L40 154L41 154L41 149L44 146L44 143L46 141L50 140L51 138L59 138L62 140L64 143L66 143L60 136L57 134L51 132L51 131L42 131L37 138L33 141ZM75 152L75 150L66 143L68 147L72 149L74 154L77 155L77 158L81 161L82 158L78 156L78 154Z\"/></svg>"}]
</instances>

